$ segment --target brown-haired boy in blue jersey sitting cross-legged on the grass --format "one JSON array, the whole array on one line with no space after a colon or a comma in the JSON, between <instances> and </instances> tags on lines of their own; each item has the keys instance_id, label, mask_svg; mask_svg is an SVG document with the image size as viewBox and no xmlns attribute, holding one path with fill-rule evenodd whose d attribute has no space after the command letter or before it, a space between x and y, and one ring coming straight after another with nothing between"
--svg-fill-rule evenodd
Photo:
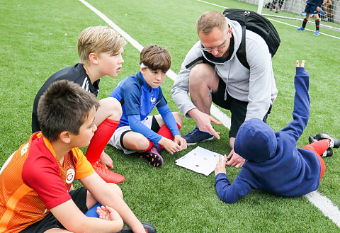
<instances>
[{"instance_id":1,"label":"brown-haired boy in blue jersey sitting cross-legged on the grass","mask_svg":"<svg viewBox=\"0 0 340 233\"><path fill-rule=\"evenodd\" d=\"M187 147L179 132L183 118L171 112L160 87L170 66L166 48L147 45L140 53L140 72L120 81L111 93L120 101L123 115L108 144L125 154L137 152L152 166L163 164L163 148L174 154ZM148 116L155 106L160 115Z\"/></svg>"}]
</instances>

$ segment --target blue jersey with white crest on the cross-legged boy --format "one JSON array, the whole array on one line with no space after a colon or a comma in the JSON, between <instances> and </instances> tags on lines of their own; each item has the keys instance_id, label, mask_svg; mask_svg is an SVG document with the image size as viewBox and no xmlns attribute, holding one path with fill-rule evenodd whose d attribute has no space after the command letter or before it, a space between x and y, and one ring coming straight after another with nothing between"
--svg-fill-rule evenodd
<instances>
[{"instance_id":1,"label":"blue jersey with white crest on the cross-legged boy","mask_svg":"<svg viewBox=\"0 0 340 233\"><path fill-rule=\"evenodd\" d=\"M154 106L160 108L167 104L161 87L153 89L145 82L141 72L120 81L110 96L122 104L123 115L118 127L129 125L128 115L140 114L140 120L145 120Z\"/></svg>"}]
</instances>

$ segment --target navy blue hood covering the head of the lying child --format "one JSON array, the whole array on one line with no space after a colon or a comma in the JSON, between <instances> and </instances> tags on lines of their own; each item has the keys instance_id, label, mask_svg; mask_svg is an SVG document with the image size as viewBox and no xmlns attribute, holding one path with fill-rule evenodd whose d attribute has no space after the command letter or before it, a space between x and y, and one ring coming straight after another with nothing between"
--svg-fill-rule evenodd
<instances>
[{"instance_id":1,"label":"navy blue hood covering the head of the lying child","mask_svg":"<svg viewBox=\"0 0 340 233\"><path fill-rule=\"evenodd\" d=\"M262 120L246 120L237 132L234 152L249 161L265 161L276 152L276 135Z\"/></svg>"}]
</instances>

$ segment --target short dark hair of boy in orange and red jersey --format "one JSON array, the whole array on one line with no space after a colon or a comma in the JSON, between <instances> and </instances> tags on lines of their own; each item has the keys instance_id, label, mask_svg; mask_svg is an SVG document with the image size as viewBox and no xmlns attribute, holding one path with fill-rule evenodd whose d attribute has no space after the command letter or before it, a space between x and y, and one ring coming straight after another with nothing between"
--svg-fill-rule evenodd
<instances>
[{"instance_id":1,"label":"short dark hair of boy in orange and red jersey","mask_svg":"<svg viewBox=\"0 0 340 233\"><path fill-rule=\"evenodd\" d=\"M81 89L72 81L55 81L41 96L38 120L42 135L54 142L63 131L79 134L92 108L99 102L94 94Z\"/></svg>"}]
</instances>

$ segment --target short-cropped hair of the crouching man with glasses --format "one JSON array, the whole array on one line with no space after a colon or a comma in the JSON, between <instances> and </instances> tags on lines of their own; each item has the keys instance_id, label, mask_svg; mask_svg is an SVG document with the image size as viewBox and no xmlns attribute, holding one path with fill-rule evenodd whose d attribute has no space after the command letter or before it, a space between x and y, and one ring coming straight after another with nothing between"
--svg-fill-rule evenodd
<instances>
[{"instance_id":1,"label":"short-cropped hair of the crouching man with glasses","mask_svg":"<svg viewBox=\"0 0 340 233\"><path fill-rule=\"evenodd\" d=\"M208 35L213 28L225 30L227 27L225 16L220 11L208 11L202 14L196 23L197 33Z\"/></svg>"}]
</instances>

